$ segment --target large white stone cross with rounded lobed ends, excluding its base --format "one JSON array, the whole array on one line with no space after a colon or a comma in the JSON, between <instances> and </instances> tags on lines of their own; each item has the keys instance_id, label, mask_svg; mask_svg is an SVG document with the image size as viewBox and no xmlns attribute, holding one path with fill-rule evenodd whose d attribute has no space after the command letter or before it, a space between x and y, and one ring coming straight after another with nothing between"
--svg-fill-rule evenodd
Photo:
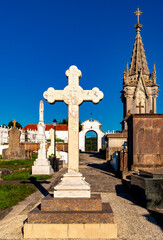
<instances>
[{"instance_id":1,"label":"large white stone cross with rounded lobed ends, excluding its base","mask_svg":"<svg viewBox=\"0 0 163 240\"><path fill-rule=\"evenodd\" d=\"M103 92L98 88L83 90L79 86L81 71L71 66L66 71L68 85L64 90L55 90L50 87L43 97L51 104L64 101L68 105L68 171L79 172L79 106L83 102L97 104L103 98Z\"/></svg>"}]
</instances>

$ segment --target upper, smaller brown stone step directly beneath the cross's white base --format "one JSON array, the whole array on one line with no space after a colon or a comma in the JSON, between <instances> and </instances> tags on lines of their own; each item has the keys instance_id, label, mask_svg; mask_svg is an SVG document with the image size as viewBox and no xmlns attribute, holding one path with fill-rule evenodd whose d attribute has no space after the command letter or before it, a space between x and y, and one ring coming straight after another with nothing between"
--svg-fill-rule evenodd
<instances>
[{"instance_id":1,"label":"upper, smaller brown stone step directly beneath the cross's white base","mask_svg":"<svg viewBox=\"0 0 163 240\"><path fill-rule=\"evenodd\" d=\"M41 211L102 211L100 194L92 194L91 198L53 198L51 195L41 200Z\"/></svg>"}]
</instances>

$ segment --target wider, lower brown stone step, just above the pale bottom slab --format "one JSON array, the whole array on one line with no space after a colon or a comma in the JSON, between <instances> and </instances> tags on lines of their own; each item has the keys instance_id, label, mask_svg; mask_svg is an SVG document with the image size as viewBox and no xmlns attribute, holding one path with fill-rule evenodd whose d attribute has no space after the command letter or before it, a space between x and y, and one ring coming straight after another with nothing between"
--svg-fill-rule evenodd
<instances>
[{"instance_id":1,"label":"wider, lower brown stone step, just above the pale bottom slab","mask_svg":"<svg viewBox=\"0 0 163 240\"><path fill-rule=\"evenodd\" d=\"M71 199L72 200L72 199ZM114 215L109 203L102 203L102 211L84 212L45 212L38 208L33 209L28 215L29 224L54 223L54 224L93 224L114 223Z\"/></svg>"}]
</instances>

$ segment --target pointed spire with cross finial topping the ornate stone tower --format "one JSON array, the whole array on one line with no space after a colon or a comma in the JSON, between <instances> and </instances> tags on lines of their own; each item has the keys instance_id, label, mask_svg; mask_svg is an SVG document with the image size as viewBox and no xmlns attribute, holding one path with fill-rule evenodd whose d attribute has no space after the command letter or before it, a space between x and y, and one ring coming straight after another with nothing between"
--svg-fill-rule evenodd
<instances>
[{"instance_id":1,"label":"pointed spire with cross finial topping the ornate stone tower","mask_svg":"<svg viewBox=\"0 0 163 240\"><path fill-rule=\"evenodd\" d=\"M129 72L130 75L135 75L138 74L140 70L142 70L143 74L150 76L150 71L148 69L148 63L145 56L145 50L142 43L142 37L140 35L142 25L139 23L139 16L142 14L142 12L138 8L134 14L137 15L137 24L134 25L136 28L136 37Z\"/></svg>"}]
</instances>

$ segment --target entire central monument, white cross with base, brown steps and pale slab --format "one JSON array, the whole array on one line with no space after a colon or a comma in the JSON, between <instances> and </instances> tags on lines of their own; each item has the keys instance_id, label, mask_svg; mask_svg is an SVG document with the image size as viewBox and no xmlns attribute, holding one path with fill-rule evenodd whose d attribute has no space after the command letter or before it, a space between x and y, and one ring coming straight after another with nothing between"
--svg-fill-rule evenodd
<instances>
[{"instance_id":1,"label":"entire central monument, white cross with base, brown steps and pale slab","mask_svg":"<svg viewBox=\"0 0 163 240\"><path fill-rule=\"evenodd\" d=\"M83 101L98 103L103 93L98 88L83 90L79 86L81 71L71 66L66 71L68 86L63 91L49 88L44 98L49 103L64 101L68 105L68 172L55 187L54 197L41 200L41 209L28 214L25 238L116 238L117 227L109 203L100 194L91 194L90 185L79 172L79 106Z\"/></svg>"}]
</instances>

